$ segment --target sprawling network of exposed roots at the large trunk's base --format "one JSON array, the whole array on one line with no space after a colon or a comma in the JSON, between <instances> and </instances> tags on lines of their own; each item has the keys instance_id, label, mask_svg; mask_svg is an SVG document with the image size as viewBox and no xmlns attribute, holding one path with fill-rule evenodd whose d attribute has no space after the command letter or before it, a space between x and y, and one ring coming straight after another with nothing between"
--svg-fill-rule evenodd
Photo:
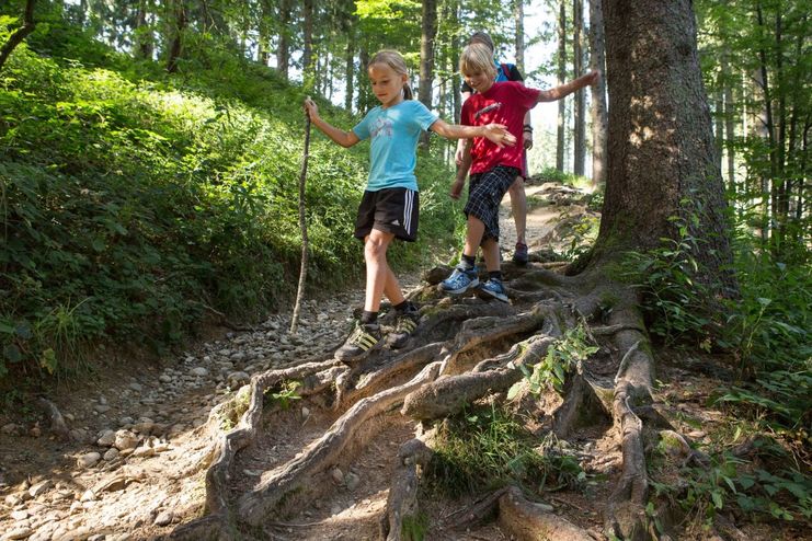
<instances>
[{"instance_id":1,"label":"sprawling network of exposed roots at the large trunk's base","mask_svg":"<svg viewBox=\"0 0 812 541\"><path fill-rule=\"evenodd\" d=\"M450 272L441 267L427 273L430 286L410 296L422 304L422 321L403 350L378 349L350 367L324 359L254 378L243 398L213 412L215 417L233 423L239 414L239 424L225 436L217 436L206 477L208 515L176 529L174 537L250 538L251 532L283 518L299 502L313 500L334 490L328 472L335 464L352 462L353 456L393 416L428 422L455 415L494 395L502 401L502 393L524 377L523 368L531 370L567 330L588 321L593 325L590 335L613 345L603 348L607 362L611 362L611 372L602 365L598 373L593 373L594 362L579 364L567 378L562 400L548 402L544 410L547 419L538 419L538 424L560 439L596 424L607 438L617 435L622 468L608 498L604 525L622 539L647 538L650 525L644 511L649 498L644 422L659 429L672 427L652 399L653 358L638 299L598 273L568 277L539 265L505 267L513 277L507 281L513 304L439 296L431 284ZM387 321L385 316L382 324ZM614 360L609 359L610 352L616 352ZM618 359L613 381L610 373L615 373ZM273 415L263 412L265 391L294 380L301 383L299 395L312 396L308 400L314 407L335 412L327 419L332 425L318 431L289 460L270 461L273 465L265 469L253 487L232 486L236 456L256 440L263 417ZM247 404L244 413L235 405L240 400ZM558 404L554 408L553 403ZM325 417L321 418L323 423ZM610 424L614 429L607 433ZM399 436L408 426L403 425ZM313 430L312 424L308 429ZM675 439L687 446L681 438ZM420 476L433 452L423 439L407 439L400 446L386 511L377 522L381 537L401 539L404 520L421 513ZM686 454L686 460L698 463L702 459L700 454ZM548 506L527 500L515 487L491 493L467 507L451 526L443 526L443 520L437 527L468 528L494 511L502 531L515 539L593 539L586 528ZM325 521L300 522L302 528L311 528L323 527Z\"/></svg>"}]
</instances>

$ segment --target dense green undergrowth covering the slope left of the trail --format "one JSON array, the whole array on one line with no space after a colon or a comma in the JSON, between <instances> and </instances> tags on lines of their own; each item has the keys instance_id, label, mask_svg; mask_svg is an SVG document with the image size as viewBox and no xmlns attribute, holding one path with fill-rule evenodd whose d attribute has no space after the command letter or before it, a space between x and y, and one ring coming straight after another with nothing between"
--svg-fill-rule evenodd
<instances>
[{"instance_id":1,"label":"dense green undergrowth covering the slope left of the trail","mask_svg":"<svg viewBox=\"0 0 812 541\"><path fill-rule=\"evenodd\" d=\"M191 39L169 76L55 20L0 72L0 388L10 372L75 375L99 344L161 355L207 314L256 320L290 299L306 89L211 39ZM334 124L357 122L319 101ZM312 137L310 291L363 274L367 154ZM393 246L396 268L461 223L446 166L421 156L418 177L421 241Z\"/></svg>"}]
</instances>

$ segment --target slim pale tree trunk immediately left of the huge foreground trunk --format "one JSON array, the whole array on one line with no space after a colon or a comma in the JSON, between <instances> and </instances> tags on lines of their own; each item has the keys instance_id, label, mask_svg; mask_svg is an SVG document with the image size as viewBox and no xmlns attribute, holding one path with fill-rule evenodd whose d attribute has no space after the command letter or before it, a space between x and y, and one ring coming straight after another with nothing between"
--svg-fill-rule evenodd
<instances>
[{"instance_id":1,"label":"slim pale tree trunk immediately left of the huge foreground trunk","mask_svg":"<svg viewBox=\"0 0 812 541\"><path fill-rule=\"evenodd\" d=\"M590 67L606 73L606 43L604 37L604 8L602 0L590 0ZM606 184L606 78L592 87L592 187Z\"/></svg>"}]
</instances>

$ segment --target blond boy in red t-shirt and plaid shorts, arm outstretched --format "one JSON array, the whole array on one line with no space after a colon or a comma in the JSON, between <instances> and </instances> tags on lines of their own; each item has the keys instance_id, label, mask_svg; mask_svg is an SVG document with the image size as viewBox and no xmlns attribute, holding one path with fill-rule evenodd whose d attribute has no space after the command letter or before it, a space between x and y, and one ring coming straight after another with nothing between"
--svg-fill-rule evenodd
<instances>
[{"instance_id":1,"label":"blond boy in red t-shirt and plaid shorts, arm outstretched","mask_svg":"<svg viewBox=\"0 0 812 541\"><path fill-rule=\"evenodd\" d=\"M466 181L465 172L468 171L465 165L470 163L471 185L468 188L468 203L462 209L468 218L466 244L461 261L439 287L449 295L461 295L479 286L474 262L477 250L481 245L488 268L488 281L477 292L487 299L495 298L507 302L499 260L499 205L522 171L522 127L525 113L539 102L560 100L588 84L594 84L598 73L593 71L551 90L529 89L514 81L494 82L496 68L491 50L478 43L462 50L459 69L466 82L477 91L462 104L460 124L468 126L504 124L516 137L517 143L515 147L500 149L482 137L469 140L462 158L464 163L458 170L460 174L457 174L450 193L454 198L460 196Z\"/></svg>"}]
</instances>

